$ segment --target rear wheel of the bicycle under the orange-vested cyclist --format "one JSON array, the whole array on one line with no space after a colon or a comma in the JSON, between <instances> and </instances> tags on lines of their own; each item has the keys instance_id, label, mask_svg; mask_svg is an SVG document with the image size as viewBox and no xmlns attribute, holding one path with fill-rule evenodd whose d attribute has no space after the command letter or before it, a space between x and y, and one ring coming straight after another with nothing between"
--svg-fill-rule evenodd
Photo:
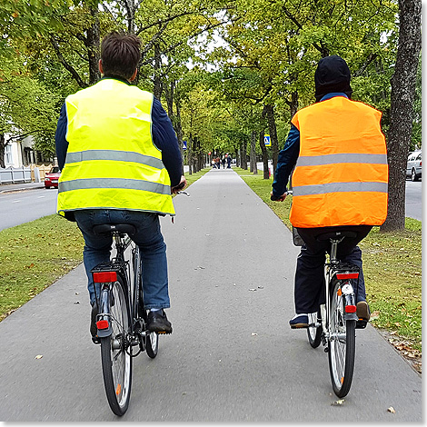
<instances>
[{"instance_id":1,"label":"rear wheel of the bicycle under the orange-vested cyclist","mask_svg":"<svg viewBox=\"0 0 427 427\"><path fill-rule=\"evenodd\" d=\"M344 397L350 391L353 381L356 321L344 320L343 295L339 281L334 281L331 289L329 372L333 382L333 392L338 397Z\"/></svg>"}]
</instances>

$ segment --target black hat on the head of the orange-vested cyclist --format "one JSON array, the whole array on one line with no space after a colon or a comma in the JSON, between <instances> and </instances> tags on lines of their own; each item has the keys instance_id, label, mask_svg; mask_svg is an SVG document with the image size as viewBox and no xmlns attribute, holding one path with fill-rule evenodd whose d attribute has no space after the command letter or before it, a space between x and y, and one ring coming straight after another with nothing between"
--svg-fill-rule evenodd
<instances>
[{"instance_id":1,"label":"black hat on the head of the orange-vested cyclist","mask_svg":"<svg viewBox=\"0 0 427 427\"><path fill-rule=\"evenodd\" d=\"M319 61L314 73L316 102L325 94L343 92L348 97L352 95L350 86L350 69L341 56L326 56Z\"/></svg>"}]
</instances>

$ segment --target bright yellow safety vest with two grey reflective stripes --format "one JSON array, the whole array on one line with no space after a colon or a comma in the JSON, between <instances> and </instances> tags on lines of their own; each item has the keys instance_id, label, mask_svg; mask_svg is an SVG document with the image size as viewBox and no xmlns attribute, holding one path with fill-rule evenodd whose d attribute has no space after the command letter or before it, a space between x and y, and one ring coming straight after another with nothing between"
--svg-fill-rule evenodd
<instances>
[{"instance_id":1,"label":"bright yellow safety vest with two grey reflective stripes","mask_svg":"<svg viewBox=\"0 0 427 427\"><path fill-rule=\"evenodd\" d=\"M151 134L153 94L103 79L68 96L58 214L124 209L174 215L171 181Z\"/></svg>"}]
</instances>

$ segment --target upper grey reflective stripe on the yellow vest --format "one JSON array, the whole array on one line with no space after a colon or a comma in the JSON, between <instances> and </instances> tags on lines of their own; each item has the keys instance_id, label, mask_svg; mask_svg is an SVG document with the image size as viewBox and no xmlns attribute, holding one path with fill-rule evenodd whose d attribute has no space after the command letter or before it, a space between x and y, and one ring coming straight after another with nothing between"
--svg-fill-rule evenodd
<instances>
[{"instance_id":1,"label":"upper grey reflective stripe on the yellow vest","mask_svg":"<svg viewBox=\"0 0 427 427\"><path fill-rule=\"evenodd\" d=\"M150 155L144 155L140 153L115 150L85 150L75 153L67 153L65 163L73 164L91 160L118 160L121 162L146 164L147 166L152 166L156 169L164 168L164 163L161 159L156 159Z\"/></svg>"}]
</instances>

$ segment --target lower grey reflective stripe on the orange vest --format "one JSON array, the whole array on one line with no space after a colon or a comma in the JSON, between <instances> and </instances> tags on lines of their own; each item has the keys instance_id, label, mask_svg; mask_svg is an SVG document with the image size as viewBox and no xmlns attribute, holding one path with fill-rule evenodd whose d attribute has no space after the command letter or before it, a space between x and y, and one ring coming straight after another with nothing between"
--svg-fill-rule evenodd
<instances>
[{"instance_id":1,"label":"lower grey reflective stripe on the orange vest","mask_svg":"<svg viewBox=\"0 0 427 427\"><path fill-rule=\"evenodd\" d=\"M293 186L293 196L343 192L387 193L387 183L328 183L318 185Z\"/></svg>"}]
</instances>

